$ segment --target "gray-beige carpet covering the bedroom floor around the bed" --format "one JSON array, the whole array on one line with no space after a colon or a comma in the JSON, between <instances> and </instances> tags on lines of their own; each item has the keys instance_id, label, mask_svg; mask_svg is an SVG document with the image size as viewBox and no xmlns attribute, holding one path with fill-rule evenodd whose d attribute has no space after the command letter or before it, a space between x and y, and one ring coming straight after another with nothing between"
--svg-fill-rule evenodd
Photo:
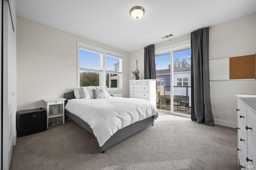
<instances>
[{"instance_id":1,"label":"gray-beige carpet covering the bedroom floor around the bed","mask_svg":"<svg viewBox=\"0 0 256 170\"><path fill-rule=\"evenodd\" d=\"M72 120L20 137L10 170L238 170L236 129L160 114L150 126L99 152Z\"/></svg>"}]
</instances>

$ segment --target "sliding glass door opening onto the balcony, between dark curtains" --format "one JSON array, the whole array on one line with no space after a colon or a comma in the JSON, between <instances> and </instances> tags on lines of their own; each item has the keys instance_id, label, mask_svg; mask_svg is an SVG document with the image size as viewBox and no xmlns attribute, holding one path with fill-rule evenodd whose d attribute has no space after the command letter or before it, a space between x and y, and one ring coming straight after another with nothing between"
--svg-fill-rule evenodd
<instances>
[{"instance_id":1,"label":"sliding glass door opening onto the balcony, between dark curtains","mask_svg":"<svg viewBox=\"0 0 256 170\"><path fill-rule=\"evenodd\" d=\"M190 55L190 48L156 54L156 105L158 109L167 113L190 115Z\"/></svg>"}]
</instances>

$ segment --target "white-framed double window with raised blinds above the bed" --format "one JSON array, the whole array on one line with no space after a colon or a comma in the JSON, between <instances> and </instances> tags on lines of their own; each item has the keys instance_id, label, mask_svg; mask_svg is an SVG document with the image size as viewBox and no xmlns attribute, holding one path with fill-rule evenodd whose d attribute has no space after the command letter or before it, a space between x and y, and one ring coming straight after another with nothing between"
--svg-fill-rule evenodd
<instances>
[{"instance_id":1,"label":"white-framed double window with raised blinds above the bed","mask_svg":"<svg viewBox=\"0 0 256 170\"><path fill-rule=\"evenodd\" d=\"M122 54L77 42L78 85L122 89ZM106 76L103 76L106 75Z\"/></svg>"}]
</instances>

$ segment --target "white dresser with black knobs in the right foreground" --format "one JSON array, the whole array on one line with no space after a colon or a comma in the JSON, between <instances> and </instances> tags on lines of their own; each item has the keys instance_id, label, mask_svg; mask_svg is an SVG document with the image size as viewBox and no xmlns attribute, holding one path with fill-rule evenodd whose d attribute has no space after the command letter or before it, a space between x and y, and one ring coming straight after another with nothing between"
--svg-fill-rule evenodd
<instances>
[{"instance_id":1,"label":"white dresser with black knobs in the right foreground","mask_svg":"<svg viewBox=\"0 0 256 170\"><path fill-rule=\"evenodd\" d=\"M236 97L238 164L241 169L256 170L256 96Z\"/></svg>"}]
</instances>

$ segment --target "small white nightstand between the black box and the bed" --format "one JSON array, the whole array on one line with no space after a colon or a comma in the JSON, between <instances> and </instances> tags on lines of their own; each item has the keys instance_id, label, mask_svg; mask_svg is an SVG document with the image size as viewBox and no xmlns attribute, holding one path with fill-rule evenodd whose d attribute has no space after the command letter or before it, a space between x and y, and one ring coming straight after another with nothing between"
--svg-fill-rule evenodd
<instances>
[{"instance_id":1,"label":"small white nightstand between the black box and the bed","mask_svg":"<svg viewBox=\"0 0 256 170\"><path fill-rule=\"evenodd\" d=\"M46 107L46 111L47 111L47 128L48 128L49 118L52 118L52 117L62 116L62 121L63 121L63 124L64 124L64 120L65 120L65 117L64 117L64 101L65 100L66 100L65 98L44 99L45 107ZM57 111L56 113L53 113L53 114L49 115L50 105L57 105L57 104L62 105L62 107L60 107L60 110L61 110L60 113L58 113L58 111Z\"/></svg>"}]
</instances>

